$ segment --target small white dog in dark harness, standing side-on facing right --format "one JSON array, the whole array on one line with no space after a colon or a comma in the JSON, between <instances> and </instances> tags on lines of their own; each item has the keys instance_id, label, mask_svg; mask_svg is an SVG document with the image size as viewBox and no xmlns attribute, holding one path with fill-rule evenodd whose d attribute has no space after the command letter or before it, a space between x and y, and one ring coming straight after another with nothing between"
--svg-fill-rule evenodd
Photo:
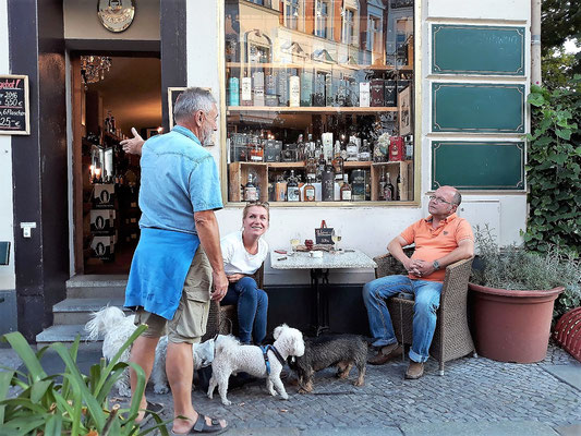
<instances>
[{"instance_id":1,"label":"small white dog in dark harness, standing side-on facing right","mask_svg":"<svg viewBox=\"0 0 581 436\"><path fill-rule=\"evenodd\" d=\"M219 336L216 339L215 348L216 355L211 363L213 374L209 380L208 397L213 398L214 389L218 386L218 392L225 405L231 404L226 398L228 378L238 372L245 372L255 377L266 377L266 388L270 395L274 397L277 395L273 387L276 386L280 396L287 400L289 396L280 379L283 363L291 355L301 356L304 354L303 334L286 324L275 329L274 348L278 351L279 356L273 350L267 352L269 373L259 347L241 346L233 336Z\"/></svg>"}]
</instances>

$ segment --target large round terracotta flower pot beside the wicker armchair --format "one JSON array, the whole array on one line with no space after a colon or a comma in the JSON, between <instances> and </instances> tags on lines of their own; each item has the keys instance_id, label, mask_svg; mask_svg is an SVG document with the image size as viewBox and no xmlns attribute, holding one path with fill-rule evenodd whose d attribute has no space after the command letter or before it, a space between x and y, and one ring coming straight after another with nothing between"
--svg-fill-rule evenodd
<instances>
[{"instance_id":1,"label":"large round terracotta flower pot beside the wicker armchair","mask_svg":"<svg viewBox=\"0 0 581 436\"><path fill-rule=\"evenodd\" d=\"M533 363L545 359L555 299L547 291L508 291L469 283L476 351L499 362Z\"/></svg>"}]
</instances>

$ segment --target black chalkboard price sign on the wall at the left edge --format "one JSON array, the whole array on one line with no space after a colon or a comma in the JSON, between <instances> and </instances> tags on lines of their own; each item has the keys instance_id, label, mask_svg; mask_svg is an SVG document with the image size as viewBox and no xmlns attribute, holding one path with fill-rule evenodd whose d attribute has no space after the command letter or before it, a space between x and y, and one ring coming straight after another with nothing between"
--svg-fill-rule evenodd
<instances>
[{"instance_id":1,"label":"black chalkboard price sign on the wall at the left edge","mask_svg":"<svg viewBox=\"0 0 581 436\"><path fill-rule=\"evenodd\" d=\"M0 75L0 134L31 134L27 75Z\"/></svg>"}]
</instances>

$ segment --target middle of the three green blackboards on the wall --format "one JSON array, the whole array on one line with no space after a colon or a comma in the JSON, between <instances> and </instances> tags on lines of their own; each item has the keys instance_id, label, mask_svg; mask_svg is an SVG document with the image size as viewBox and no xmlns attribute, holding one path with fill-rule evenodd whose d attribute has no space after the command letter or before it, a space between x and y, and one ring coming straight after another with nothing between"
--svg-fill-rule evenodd
<instances>
[{"instance_id":1,"label":"middle of the three green blackboards on the wall","mask_svg":"<svg viewBox=\"0 0 581 436\"><path fill-rule=\"evenodd\" d=\"M433 83L432 131L524 133L524 85Z\"/></svg>"}]
</instances>

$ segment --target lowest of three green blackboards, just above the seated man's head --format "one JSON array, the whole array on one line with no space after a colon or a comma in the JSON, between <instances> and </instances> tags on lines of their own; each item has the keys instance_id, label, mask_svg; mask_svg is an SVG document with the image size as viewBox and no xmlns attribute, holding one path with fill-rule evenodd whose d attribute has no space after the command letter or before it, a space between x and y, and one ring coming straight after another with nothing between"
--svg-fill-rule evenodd
<instances>
[{"instance_id":1,"label":"lowest of three green blackboards, just above the seated man's head","mask_svg":"<svg viewBox=\"0 0 581 436\"><path fill-rule=\"evenodd\" d=\"M432 189L523 190L524 143L432 143Z\"/></svg>"}]
</instances>

